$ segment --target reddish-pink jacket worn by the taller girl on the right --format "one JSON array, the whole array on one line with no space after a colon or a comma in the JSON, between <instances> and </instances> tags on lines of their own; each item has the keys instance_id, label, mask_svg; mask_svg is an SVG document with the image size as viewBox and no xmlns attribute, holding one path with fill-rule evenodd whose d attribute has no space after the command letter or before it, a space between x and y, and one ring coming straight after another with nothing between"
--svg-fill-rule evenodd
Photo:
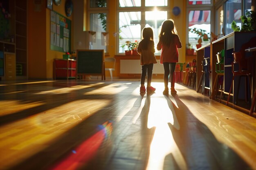
<instances>
[{"instance_id":1,"label":"reddish-pink jacket worn by the taller girl on the right","mask_svg":"<svg viewBox=\"0 0 256 170\"><path fill-rule=\"evenodd\" d=\"M157 50L161 50L160 63L164 62L179 62L179 52L178 49L182 47L180 38L177 34L174 34L174 40L171 42L170 46L165 46L159 40L157 44Z\"/></svg>"}]
</instances>

